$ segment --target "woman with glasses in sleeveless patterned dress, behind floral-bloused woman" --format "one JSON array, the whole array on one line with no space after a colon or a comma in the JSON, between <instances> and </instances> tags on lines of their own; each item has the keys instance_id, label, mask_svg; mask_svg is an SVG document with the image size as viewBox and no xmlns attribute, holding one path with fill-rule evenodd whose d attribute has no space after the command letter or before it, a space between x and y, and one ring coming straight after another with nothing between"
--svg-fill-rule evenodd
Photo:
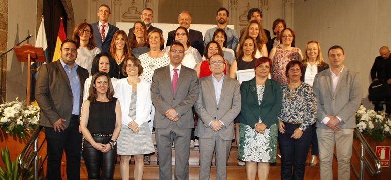
<instances>
[{"instance_id":1,"label":"woman with glasses in sleeveless patterned dress, behind floral-bloused woman","mask_svg":"<svg viewBox=\"0 0 391 180\"><path fill-rule=\"evenodd\" d=\"M292 29L283 29L280 37L280 46L270 51L269 58L273 62L272 79L283 85L288 82L284 74L286 65L293 60L302 60L303 55L299 48L292 47L292 43L295 43L295 32Z\"/></svg>"}]
</instances>

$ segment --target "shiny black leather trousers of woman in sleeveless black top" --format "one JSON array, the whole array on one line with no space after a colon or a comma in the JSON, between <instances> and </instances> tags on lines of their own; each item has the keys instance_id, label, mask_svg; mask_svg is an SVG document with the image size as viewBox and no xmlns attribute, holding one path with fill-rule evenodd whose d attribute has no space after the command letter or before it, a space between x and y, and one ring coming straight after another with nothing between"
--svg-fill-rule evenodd
<instances>
[{"instance_id":1,"label":"shiny black leather trousers of woman in sleeveless black top","mask_svg":"<svg viewBox=\"0 0 391 180\"><path fill-rule=\"evenodd\" d=\"M95 142L107 144L110 137L92 136ZM113 179L117 145L106 153L95 149L87 140L83 142L83 158L87 167L88 179Z\"/></svg>"}]
</instances>

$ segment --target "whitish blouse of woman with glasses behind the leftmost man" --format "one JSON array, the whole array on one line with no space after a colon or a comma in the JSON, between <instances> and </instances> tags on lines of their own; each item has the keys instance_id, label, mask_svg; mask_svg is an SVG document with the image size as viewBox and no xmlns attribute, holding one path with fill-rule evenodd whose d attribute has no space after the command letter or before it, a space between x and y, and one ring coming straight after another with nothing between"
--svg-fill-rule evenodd
<instances>
[{"instance_id":1,"label":"whitish blouse of woman with glasses behind the leftmost man","mask_svg":"<svg viewBox=\"0 0 391 180\"><path fill-rule=\"evenodd\" d=\"M77 49L76 64L87 69L88 74L91 75L92 61L97 54L101 53L98 47L89 50L87 47L79 47Z\"/></svg>"}]
</instances>

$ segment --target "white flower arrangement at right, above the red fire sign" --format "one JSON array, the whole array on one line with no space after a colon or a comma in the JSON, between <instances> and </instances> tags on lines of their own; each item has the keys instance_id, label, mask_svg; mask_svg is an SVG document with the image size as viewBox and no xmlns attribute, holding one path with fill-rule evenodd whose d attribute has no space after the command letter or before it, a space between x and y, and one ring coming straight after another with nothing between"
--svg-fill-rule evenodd
<instances>
[{"instance_id":1,"label":"white flower arrangement at right, above the red fire sign","mask_svg":"<svg viewBox=\"0 0 391 180\"><path fill-rule=\"evenodd\" d=\"M372 140L384 141L387 134L391 136L391 118L384 111L376 112L361 105L355 117L357 129Z\"/></svg>"}]
</instances>

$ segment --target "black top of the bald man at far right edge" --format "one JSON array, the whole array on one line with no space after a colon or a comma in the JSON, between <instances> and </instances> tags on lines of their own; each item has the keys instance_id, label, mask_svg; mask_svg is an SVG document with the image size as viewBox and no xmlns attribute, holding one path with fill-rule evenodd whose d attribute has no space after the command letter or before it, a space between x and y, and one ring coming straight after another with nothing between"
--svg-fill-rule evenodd
<instances>
[{"instance_id":1,"label":"black top of the bald man at far right edge","mask_svg":"<svg viewBox=\"0 0 391 180\"><path fill-rule=\"evenodd\" d=\"M391 79L391 56L383 59L381 56L376 57L371 69L372 81L375 78L387 81Z\"/></svg>"}]
</instances>

